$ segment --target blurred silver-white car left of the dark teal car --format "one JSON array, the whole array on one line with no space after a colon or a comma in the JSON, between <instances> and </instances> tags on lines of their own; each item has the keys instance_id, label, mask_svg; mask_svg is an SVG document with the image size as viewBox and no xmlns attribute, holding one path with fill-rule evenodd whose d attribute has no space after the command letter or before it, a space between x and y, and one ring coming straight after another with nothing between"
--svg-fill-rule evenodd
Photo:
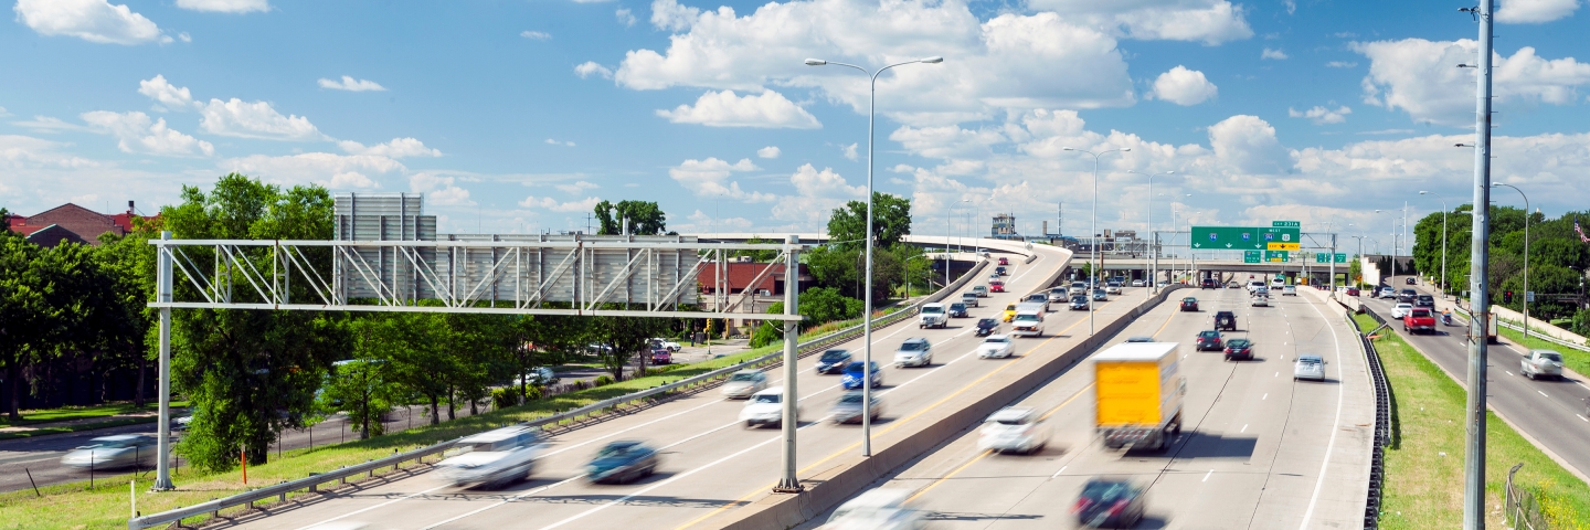
<instances>
[{"instance_id":1,"label":"blurred silver-white car left of the dark teal car","mask_svg":"<svg viewBox=\"0 0 1590 530\"><path fill-rule=\"evenodd\" d=\"M514 425L467 436L458 454L436 463L442 479L463 487L499 487L528 479L547 442L539 428Z\"/></svg>"}]
</instances>

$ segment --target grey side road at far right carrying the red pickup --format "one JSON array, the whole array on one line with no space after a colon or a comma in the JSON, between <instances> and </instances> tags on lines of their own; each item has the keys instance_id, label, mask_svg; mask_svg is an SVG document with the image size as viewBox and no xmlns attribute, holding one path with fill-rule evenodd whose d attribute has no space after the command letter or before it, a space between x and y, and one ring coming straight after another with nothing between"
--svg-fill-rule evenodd
<instances>
[{"instance_id":1,"label":"grey side road at far right carrying the red pickup","mask_svg":"<svg viewBox=\"0 0 1590 530\"><path fill-rule=\"evenodd\" d=\"M1390 285L1399 291L1414 288L1421 294L1433 294L1423 285L1406 285L1402 279L1406 277L1394 277ZM1361 296L1359 301L1386 318L1391 323L1388 326L1391 331L1401 333L1409 344L1441 366L1460 387L1466 385L1469 371L1468 318L1453 312L1452 326L1437 325L1433 334L1409 334L1398 322L1391 320L1394 301L1371 299L1369 296ZM1450 304L1439 301L1437 296L1437 307L1444 309ZM1558 380L1525 379L1518 374L1518 361L1526 349L1512 344L1507 337L1499 337L1499 345L1493 344L1488 349L1490 355L1485 363L1488 371L1485 379L1487 404L1530 438L1536 447L1584 479L1590 474L1590 417L1587 417L1584 401L1590 398L1590 382L1573 376Z\"/></svg>"}]
</instances>

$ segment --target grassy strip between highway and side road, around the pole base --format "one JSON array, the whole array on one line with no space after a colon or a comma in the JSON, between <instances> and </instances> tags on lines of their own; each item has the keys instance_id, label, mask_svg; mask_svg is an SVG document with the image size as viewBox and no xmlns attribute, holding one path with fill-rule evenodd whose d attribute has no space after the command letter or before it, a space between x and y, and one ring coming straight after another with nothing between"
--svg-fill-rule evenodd
<instances>
[{"instance_id":1,"label":"grassy strip between highway and side road, around the pole base","mask_svg":"<svg viewBox=\"0 0 1590 530\"><path fill-rule=\"evenodd\" d=\"M1377 323L1358 315L1358 326ZM1385 452L1382 528L1463 525L1463 387L1394 333L1375 339L1391 385L1391 447ZM1503 528L1507 470L1523 463L1515 484L1533 490L1553 528L1590 528L1590 489L1488 412L1485 422L1487 524Z\"/></svg>"}]
</instances>

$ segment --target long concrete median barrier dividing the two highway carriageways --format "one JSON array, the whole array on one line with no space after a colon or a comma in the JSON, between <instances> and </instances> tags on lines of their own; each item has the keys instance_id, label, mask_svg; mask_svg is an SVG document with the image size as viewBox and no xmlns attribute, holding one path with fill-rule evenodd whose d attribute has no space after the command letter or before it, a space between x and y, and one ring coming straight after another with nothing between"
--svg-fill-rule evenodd
<instances>
[{"instance_id":1,"label":"long concrete median barrier dividing the two highway carriageways","mask_svg":"<svg viewBox=\"0 0 1590 530\"><path fill-rule=\"evenodd\" d=\"M994 372L976 395L951 395L943 406L919 412L909 427L881 433L873 438L873 457L846 455L814 471L801 484L801 493L773 493L744 508L725 514L717 528L770 530L790 528L838 506L846 498L862 492L874 481L887 476L911 460L927 454L941 442L981 423L989 414L1021 398L1067 368L1088 358L1132 320L1165 301L1175 286L1145 299L1130 312L1103 325L1092 337L1086 337L1059 353L1034 355L1038 363L1016 364L1008 372Z\"/></svg>"}]
</instances>

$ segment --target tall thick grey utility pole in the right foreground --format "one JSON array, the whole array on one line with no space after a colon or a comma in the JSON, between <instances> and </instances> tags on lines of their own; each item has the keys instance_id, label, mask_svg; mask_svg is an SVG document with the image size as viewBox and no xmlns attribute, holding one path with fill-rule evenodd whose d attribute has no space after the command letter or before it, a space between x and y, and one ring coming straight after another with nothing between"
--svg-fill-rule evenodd
<instances>
[{"instance_id":1,"label":"tall thick grey utility pole in the right foreground","mask_svg":"<svg viewBox=\"0 0 1590 530\"><path fill-rule=\"evenodd\" d=\"M1495 0L1464 8L1480 24L1474 110L1474 229L1469 256L1469 399L1464 411L1468 442L1463 457L1463 528L1485 528L1485 361L1490 320L1490 127L1491 127L1491 13Z\"/></svg>"}]
</instances>

